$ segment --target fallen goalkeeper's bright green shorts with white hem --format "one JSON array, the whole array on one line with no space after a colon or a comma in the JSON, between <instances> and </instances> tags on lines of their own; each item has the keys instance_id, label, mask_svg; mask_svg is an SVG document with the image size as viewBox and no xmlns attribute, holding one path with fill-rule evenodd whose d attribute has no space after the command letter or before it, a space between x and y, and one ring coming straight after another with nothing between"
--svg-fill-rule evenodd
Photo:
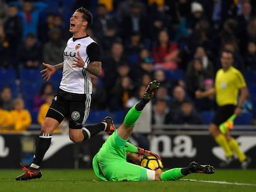
<instances>
[{"instance_id":1,"label":"fallen goalkeeper's bright green shorts with white hem","mask_svg":"<svg viewBox=\"0 0 256 192\"><path fill-rule=\"evenodd\" d=\"M143 181L155 177L155 172L126 161L127 140L122 140L114 131L100 151L93 157L93 170L105 181Z\"/></svg>"}]
</instances>

